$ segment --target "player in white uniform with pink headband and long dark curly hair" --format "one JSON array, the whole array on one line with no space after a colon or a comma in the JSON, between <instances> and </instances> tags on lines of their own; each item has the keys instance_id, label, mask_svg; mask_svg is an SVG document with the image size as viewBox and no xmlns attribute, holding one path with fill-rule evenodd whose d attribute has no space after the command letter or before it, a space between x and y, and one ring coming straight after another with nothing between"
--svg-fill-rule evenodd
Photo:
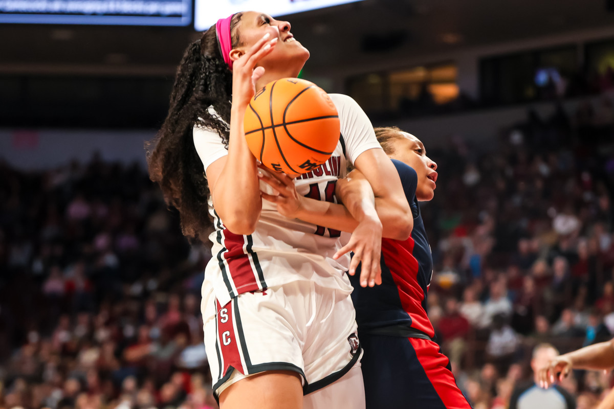
<instances>
[{"instance_id":1,"label":"player in white uniform with pink headband and long dark curly hair","mask_svg":"<svg viewBox=\"0 0 614 409\"><path fill-rule=\"evenodd\" d=\"M319 223L288 218L262 199L261 186L273 190L258 180L244 112L257 90L296 77L308 57L286 21L258 12L219 20L185 52L149 157L150 176L179 210L185 235L202 239L206 214L214 220L201 310L222 409L363 408L361 349L344 273L349 257L340 252L339 230L354 227L352 250L369 268L367 258L379 265L381 232L406 238L413 224L370 121L342 95L331 98L343 144L324 166L293 180L310 199L303 217ZM376 186L351 214L330 203L347 161ZM386 209L379 217L376 201ZM373 286L379 278L369 272L367 280Z\"/></svg>"}]
</instances>

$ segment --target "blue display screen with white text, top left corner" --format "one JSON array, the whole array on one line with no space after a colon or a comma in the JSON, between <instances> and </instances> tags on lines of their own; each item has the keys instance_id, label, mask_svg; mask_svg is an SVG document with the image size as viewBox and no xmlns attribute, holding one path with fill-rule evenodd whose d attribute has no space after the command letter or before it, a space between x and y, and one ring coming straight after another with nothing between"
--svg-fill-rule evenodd
<instances>
[{"instance_id":1,"label":"blue display screen with white text, top left corner","mask_svg":"<svg viewBox=\"0 0 614 409\"><path fill-rule=\"evenodd\" d=\"M192 0L0 0L0 23L187 26Z\"/></svg>"}]
</instances>

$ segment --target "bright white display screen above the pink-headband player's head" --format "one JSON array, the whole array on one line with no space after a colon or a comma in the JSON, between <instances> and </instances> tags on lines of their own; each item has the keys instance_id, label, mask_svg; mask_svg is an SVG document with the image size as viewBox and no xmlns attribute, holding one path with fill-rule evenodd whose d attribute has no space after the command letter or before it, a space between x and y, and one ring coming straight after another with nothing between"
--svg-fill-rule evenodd
<instances>
[{"instance_id":1,"label":"bright white display screen above the pink-headband player's head","mask_svg":"<svg viewBox=\"0 0 614 409\"><path fill-rule=\"evenodd\" d=\"M194 28L207 30L219 18L241 11L253 10L278 17L357 1L360 0L195 0Z\"/></svg>"}]
</instances>

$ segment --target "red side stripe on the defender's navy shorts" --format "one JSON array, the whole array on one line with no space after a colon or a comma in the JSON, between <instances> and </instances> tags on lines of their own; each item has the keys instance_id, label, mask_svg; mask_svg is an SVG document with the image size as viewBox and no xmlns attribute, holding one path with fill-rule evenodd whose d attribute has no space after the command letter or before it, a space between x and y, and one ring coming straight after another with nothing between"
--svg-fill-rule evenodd
<instances>
[{"instance_id":1,"label":"red side stripe on the defender's navy shorts","mask_svg":"<svg viewBox=\"0 0 614 409\"><path fill-rule=\"evenodd\" d=\"M448 369L448 358L440 352L439 345L421 338L409 338L409 340L416 350L416 357L422 369L446 409L471 409L467 398L457 386L453 373Z\"/></svg>"}]
</instances>

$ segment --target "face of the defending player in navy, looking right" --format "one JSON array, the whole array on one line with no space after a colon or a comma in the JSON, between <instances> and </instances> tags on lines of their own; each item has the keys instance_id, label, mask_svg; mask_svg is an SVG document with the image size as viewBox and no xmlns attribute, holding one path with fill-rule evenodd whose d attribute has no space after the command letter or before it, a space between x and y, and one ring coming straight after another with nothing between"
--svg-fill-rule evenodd
<instances>
[{"instance_id":1,"label":"face of the defending player in navy, looking right","mask_svg":"<svg viewBox=\"0 0 614 409\"><path fill-rule=\"evenodd\" d=\"M426 148L421 140L407 132L400 132L398 138L392 140L393 151L389 153L392 159L397 159L411 166L418 174L416 199L421 202L430 201L435 196L437 185L437 163L426 156Z\"/></svg>"}]
</instances>

